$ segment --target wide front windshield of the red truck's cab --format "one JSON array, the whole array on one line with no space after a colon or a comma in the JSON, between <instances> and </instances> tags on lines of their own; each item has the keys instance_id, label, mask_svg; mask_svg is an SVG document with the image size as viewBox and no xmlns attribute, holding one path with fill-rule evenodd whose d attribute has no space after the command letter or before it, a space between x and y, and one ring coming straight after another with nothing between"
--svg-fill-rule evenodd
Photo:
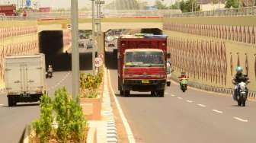
<instances>
[{"instance_id":1,"label":"wide front windshield of the red truck's cab","mask_svg":"<svg viewBox=\"0 0 256 143\"><path fill-rule=\"evenodd\" d=\"M164 66L163 52L126 52L126 66Z\"/></svg>"}]
</instances>

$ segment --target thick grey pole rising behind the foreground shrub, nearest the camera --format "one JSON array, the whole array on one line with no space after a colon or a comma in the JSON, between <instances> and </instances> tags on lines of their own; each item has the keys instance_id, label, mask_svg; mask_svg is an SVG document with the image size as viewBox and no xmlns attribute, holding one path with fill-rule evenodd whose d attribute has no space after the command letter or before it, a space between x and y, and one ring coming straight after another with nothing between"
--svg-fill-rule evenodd
<instances>
[{"instance_id":1,"label":"thick grey pole rising behind the foreground shrub, nearest the camera","mask_svg":"<svg viewBox=\"0 0 256 143\"><path fill-rule=\"evenodd\" d=\"M72 21L72 97L79 94L78 0L71 1Z\"/></svg>"}]
</instances>

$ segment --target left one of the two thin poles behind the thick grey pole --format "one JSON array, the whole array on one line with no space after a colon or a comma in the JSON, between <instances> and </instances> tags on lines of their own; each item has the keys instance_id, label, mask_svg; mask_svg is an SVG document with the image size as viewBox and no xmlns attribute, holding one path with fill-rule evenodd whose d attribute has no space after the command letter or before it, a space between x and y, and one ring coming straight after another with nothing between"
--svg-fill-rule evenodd
<instances>
[{"instance_id":1,"label":"left one of the two thin poles behind the thick grey pole","mask_svg":"<svg viewBox=\"0 0 256 143\"><path fill-rule=\"evenodd\" d=\"M92 73L95 75L95 21L94 21L94 0L91 0L91 18L92 18Z\"/></svg>"}]
</instances>

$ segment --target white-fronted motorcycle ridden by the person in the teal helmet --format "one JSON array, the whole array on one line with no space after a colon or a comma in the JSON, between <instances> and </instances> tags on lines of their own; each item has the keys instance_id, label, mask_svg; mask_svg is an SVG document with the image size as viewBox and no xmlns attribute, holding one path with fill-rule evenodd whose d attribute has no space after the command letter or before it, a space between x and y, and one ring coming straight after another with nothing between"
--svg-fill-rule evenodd
<instances>
[{"instance_id":1,"label":"white-fronted motorcycle ridden by the person in the teal helmet","mask_svg":"<svg viewBox=\"0 0 256 143\"><path fill-rule=\"evenodd\" d=\"M245 82L238 83L238 88L235 93L235 96L238 102L238 106L245 106L247 96L248 96L248 88Z\"/></svg>"}]
</instances>

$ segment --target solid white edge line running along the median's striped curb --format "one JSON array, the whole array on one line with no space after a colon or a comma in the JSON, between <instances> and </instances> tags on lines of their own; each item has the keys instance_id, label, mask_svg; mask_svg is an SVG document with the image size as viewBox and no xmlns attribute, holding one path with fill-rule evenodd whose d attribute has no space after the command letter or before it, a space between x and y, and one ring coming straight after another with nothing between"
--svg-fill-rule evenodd
<instances>
[{"instance_id":1,"label":"solid white edge line running along the median's striped curb","mask_svg":"<svg viewBox=\"0 0 256 143\"><path fill-rule=\"evenodd\" d=\"M135 138L133 136L132 129L130 129L129 122L127 122L127 119L123 114L123 110L121 109L120 103L118 102L117 97L114 94L114 90L113 90L113 87L112 87L111 82L110 82L110 71L106 70L106 68L105 68L105 71L107 71L107 73L108 73L108 84L110 85L110 91L111 91L111 94L114 97L115 103L117 104L117 110L118 110L118 112L120 114L120 117L123 121L123 126L126 129L126 134L127 134L128 140L129 140L130 143L135 143L136 141L135 141Z\"/></svg>"}]
</instances>

